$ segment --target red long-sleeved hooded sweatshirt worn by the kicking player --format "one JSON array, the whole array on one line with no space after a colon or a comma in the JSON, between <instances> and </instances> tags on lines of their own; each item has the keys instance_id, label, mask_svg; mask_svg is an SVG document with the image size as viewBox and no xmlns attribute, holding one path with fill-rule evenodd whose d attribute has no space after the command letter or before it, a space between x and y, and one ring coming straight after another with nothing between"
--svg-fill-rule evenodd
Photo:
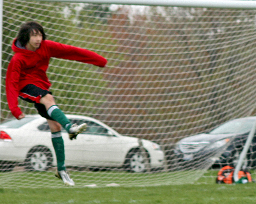
<instances>
[{"instance_id":1,"label":"red long-sleeved hooded sweatshirt worn by the kicking player","mask_svg":"<svg viewBox=\"0 0 256 204\"><path fill-rule=\"evenodd\" d=\"M49 89L51 83L46 76L51 57L67 60L76 60L99 67L104 67L107 60L87 49L69 46L50 40L43 40L40 47L34 52L16 46L13 41L12 57L6 74L6 97L9 109L14 117L18 118L22 111L18 107L19 91L28 84L34 84L42 89Z\"/></svg>"}]
</instances>

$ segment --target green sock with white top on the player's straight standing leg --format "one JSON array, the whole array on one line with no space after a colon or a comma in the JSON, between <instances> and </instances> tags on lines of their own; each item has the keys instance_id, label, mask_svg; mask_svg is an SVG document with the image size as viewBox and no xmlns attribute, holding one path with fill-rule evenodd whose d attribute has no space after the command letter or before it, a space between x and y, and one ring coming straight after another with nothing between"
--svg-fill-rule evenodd
<instances>
[{"instance_id":1,"label":"green sock with white top on the player's straight standing leg","mask_svg":"<svg viewBox=\"0 0 256 204\"><path fill-rule=\"evenodd\" d=\"M58 171L66 170L64 141L61 132L52 133L52 145L56 153Z\"/></svg>"}]
</instances>

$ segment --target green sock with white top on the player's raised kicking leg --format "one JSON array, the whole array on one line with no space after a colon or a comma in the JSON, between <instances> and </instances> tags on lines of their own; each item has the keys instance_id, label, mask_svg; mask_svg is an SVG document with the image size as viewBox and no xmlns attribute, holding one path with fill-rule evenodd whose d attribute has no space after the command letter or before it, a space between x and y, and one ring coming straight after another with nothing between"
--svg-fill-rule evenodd
<instances>
[{"instance_id":1,"label":"green sock with white top on the player's raised kicking leg","mask_svg":"<svg viewBox=\"0 0 256 204\"><path fill-rule=\"evenodd\" d=\"M59 109L58 106L53 105L47 110L48 115L57 121L61 126L69 132L69 128L72 125L70 120L65 116L65 114Z\"/></svg>"}]
</instances>

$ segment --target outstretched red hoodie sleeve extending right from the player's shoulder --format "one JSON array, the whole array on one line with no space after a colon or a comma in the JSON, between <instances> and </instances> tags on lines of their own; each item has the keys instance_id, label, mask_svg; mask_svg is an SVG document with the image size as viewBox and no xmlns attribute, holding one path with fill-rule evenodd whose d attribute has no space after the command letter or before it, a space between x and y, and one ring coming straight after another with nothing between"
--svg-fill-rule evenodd
<instances>
[{"instance_id":1,"label":"outstretched red hoodie sleeve extending right from the player's shoulder","mask_svg":"<svg viewBox=\"0 0 256 204\"><path fill-rule=\"evenodd\" d=\"M45 40L45 42L48 46L51 57L76 60L78 62L93 64L98 67L104 67L107 64L107 60L103 56L98 55L93 51L50 40Z\"/></svg>"}]
</instances>

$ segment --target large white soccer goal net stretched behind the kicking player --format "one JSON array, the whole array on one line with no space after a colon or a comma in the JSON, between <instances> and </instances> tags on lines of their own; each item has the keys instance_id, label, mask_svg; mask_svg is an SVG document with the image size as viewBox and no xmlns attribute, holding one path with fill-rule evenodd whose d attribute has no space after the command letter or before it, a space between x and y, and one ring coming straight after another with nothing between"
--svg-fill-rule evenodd
<instances>
[{"instance_id":1,"label":"large white soccer goal net stretched behind the kicking player","mask_svg":"<svg viewBox=\"0 0 256 204\"><path fill-rule=\"evenodd\" d=\"M52 58L47 70L58 106L88 125L74 141L62 133L77 187L212 183L236 164L255 120L256 10L4 0L1 187L63 186L45 118L19 100L16 120L6 101L11 45L28 21L108 59Z\"/></svg>"}]
</instances>

